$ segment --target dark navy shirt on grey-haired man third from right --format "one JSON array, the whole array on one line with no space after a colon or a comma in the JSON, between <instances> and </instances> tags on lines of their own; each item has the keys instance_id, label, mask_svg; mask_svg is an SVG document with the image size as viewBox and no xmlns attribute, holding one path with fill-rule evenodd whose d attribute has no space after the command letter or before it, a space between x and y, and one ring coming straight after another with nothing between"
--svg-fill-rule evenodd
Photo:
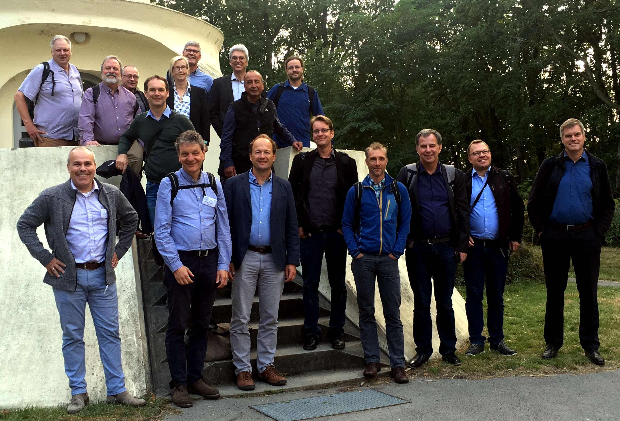
<instances>
[{"instance_id":1,"label":"dark navy shirt on grey-haired man third from right","mask_svg":"<svg viewBox=\"0 0 620 421\"><path fill-rule=\"evenodd\" d=\"M420 236L423 239L449 237L452 231L452 219L448 191L441 175L441 164L437 164L433 174L428 174L420 165L417 182Z\"/></svg>"}]
</instances>

